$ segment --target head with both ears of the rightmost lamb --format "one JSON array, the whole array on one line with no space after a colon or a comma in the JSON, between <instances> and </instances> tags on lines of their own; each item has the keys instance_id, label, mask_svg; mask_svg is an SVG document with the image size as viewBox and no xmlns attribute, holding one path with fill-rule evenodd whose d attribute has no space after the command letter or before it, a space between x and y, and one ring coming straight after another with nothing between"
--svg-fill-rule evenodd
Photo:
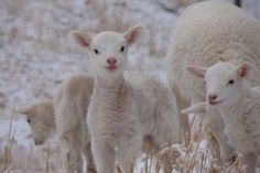
<instances>
[{"instance_id":1,"label":"head with both ears of the rightmost lamb","mask_svg":"<svg viewBox=\"0 0 260 173\"><path fill-rule=\"evenodd\" d=\"M235 66L217 63L210 67L188 65L186 71L206 82L206 99L210 106L232 106L245 95L245 79L252 68L250 63Z\"/></svg>"}]
</instances>

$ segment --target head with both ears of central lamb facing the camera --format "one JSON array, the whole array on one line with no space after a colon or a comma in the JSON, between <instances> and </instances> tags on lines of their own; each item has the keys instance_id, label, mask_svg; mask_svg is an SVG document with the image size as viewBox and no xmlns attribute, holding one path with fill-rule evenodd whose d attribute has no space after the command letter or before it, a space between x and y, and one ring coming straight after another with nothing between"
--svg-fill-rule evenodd
<instances>
[{"instance_id":1,"label":"head with both ears of central lamb facing the camera","mask_svg":"<svg viewBox=\"0 0 260 173\"><path fill-rule=\"evenodd\" d=\"M79 45L87 48L94 74L106 77L121 75L126 71L128 47L138 40L141 29L136 25L124 33L105 31L93 37L86 33L73 31L72 35Z\"/></svg>"}]
</instances>

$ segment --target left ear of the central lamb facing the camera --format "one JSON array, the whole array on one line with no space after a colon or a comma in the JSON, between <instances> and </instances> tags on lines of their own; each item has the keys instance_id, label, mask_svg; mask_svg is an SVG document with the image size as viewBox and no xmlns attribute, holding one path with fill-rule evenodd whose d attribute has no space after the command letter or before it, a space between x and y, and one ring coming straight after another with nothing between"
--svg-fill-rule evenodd
<instances>
[{"instance_id":1,"label":"left ear of the central lamb facing the camera","mask_svg":"<svg viewBox=\"0 0 260 173\"><path fill-rule=\"evenodd\" d=\"M80 31L72 31L71 34L79 45L82 45L83 47L89 47L93 40L91 36Z\"/></svg>"}]
</instances>

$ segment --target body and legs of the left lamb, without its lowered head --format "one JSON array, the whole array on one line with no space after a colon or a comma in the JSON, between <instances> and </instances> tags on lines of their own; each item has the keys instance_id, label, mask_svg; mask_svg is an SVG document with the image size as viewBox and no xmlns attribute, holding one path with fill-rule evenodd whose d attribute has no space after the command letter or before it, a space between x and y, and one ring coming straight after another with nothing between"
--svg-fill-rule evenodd
<instances>
[{"instance_id":1,"label":"body and legs of the left lamb, without its lowered head","mask_svg":"<svg viewBox=\"0 0 260 173\"><path fill-rule=\"evenodd\" d=\"M93 88L93 77L74 75L62 83L54 97L56 133L66 172L84 171L82 153L87 159L87 171L96 172L86 123Z\"/></svg>"}]
</instances>

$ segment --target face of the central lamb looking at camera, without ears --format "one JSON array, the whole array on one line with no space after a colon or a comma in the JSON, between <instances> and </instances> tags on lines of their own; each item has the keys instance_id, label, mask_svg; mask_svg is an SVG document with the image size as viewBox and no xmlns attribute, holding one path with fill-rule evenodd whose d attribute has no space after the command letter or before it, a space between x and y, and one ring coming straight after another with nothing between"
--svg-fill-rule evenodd
<instances>
[{"instance_id":1,"label":"face of the central lamb looking at camera, without ears","mask_svg":"<svg viewBox=\"0 0 260 173\"><path fill-rule=\"evenodd\" d=\"M122 34L101 32L93 37L88 48L91 69L96 76L117 76L128 64L128 44Z\"/></svg>"}]
</instances>

